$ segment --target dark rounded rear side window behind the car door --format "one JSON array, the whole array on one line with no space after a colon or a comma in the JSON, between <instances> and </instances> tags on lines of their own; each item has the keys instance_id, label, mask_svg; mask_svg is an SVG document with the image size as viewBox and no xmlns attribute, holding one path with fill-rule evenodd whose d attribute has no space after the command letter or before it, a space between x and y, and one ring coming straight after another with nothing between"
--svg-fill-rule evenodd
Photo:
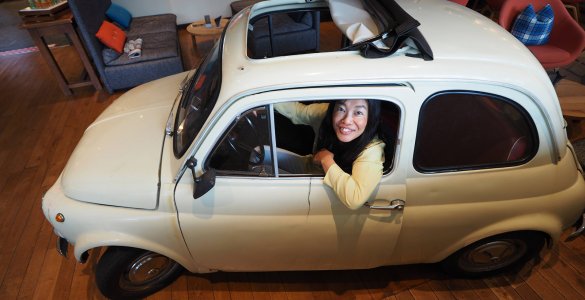
<instances>
[{"instance_id":1,"label":"dark rounded rear side window behind the car door","mask_svg":"<svg viewBox=\"0 0 585 300\"><path fill-rule=\"evenodd\" d=\"M422 172L518 165L537 151L536 127L511 100L445 92L422 106L414 167Z\"/></svg>"}]
</instances>

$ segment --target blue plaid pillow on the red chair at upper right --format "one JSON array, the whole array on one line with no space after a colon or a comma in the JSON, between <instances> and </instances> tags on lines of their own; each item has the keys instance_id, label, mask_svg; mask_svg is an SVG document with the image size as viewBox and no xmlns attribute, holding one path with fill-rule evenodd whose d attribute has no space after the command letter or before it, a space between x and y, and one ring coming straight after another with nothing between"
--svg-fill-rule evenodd
<instances>
[{"instance_id":1,"label":"blue plaid pillow on the red chair at upper right","mask_svg":"<svg viewBox=\"0 0 585 300\"><path fill-rule=\"evenodd\" d=\"M529 4L514 21L512 35L524 45L542 45L548 42L554 22L554 12L550 4L547 4L537 13Z\"/></svg>"}]
</instances>

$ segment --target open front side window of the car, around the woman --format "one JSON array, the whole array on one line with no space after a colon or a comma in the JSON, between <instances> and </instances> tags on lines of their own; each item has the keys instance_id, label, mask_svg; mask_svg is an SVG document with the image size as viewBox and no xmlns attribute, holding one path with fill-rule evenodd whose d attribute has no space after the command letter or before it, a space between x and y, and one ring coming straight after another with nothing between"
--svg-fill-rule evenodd
<instances>
[{"instance_id":1,"label":"open front side window of the car, around the woman","mask_svg":"<svg viewBox=\"0 0 585 300\"><path fill-rule=\"evenodd\" d=\"M324 116L328 103L309 101L295 102L295 105L316 105ZM378 137L386 144L384 173L387 174L393 168L400 110L388 101L381 104ZM279 105L261 106L238 115L214 147L207 165L219 175L229 176L324 176L321 167L312 162L321 119L312 124L291 120L290 115L279 112Z\"/></svg>"}]
</instances>

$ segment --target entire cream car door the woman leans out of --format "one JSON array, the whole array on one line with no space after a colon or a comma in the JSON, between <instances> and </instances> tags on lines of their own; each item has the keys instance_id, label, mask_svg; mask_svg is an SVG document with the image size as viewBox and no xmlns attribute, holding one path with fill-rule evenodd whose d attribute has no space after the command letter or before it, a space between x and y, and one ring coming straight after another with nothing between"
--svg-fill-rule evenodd
<instances>
[{"instance_id":1,"label":"entire cream car door the woman leans out of","mask_svg":"<svg viewBox=\"0 0 585 300\"><path fill-rule=\"evenodd\" d=\"M368 91L370 94L367 94ZM385 256L391 254L400 232L400 210L345 209L338 205L339 200L329 188L323 186L323 174L294 174L283 171L277 165L283 150L279 147L284 147L282 137L290 133L278 132L282 130L282 124L275 122L277 113L274 104L286 101L322 102L348 96L362 99L375 96L375 99L389 103L402 115L399 100L412 97L413 92L406 86L390 86L259 93L230 105L223 114L225 118L212 125L214 128L209 130L208 139L219 138L202 142L196 151L197 161L208 164L206 169L221 169L226 165L237 168L234 166L238 163L230 162L234 157L251 164L242 165L246 170L216 170L215 185L197 199L193 199L194 180L189 171L179 180L175 201L181 233L199 265L219 270L364 268L379 265L381 260L352 256L359 254L365 257L382 252ZM395 135L398 136L402 122L395 121ZM265 129L260 130L258 122L263 123ZM224 126L224 123L231 125ZM277 130L274 130L275 126ZM233 130L237 132L232 134ZM247 134L250 132L253 134ZM246 135L263 137L238 144L238 138ZM216 153L234 148L245 151L243 154L233 151L216 157ZM399 151L391 153L394 166L384 177L376 199L405 201L403 164L399 163L399 155L394 154ZM274 161L272 157L278 159ZM314 194L309 197L309 193ZM377 204L387 206L388 203L381 201ZM360 222L363 230L349 226L348 222ZM378 246L378 243L385 245ZM372 251L363 251L365 249Z\"/></svg>"}]
</instances>

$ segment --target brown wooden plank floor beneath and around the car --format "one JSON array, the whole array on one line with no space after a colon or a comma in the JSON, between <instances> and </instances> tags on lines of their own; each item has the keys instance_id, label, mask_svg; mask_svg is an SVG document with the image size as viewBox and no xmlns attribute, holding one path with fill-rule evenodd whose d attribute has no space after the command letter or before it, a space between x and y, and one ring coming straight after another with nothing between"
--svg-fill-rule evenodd
<instances>
[{"instance_id":1,"label":"brown wooden plank floor beneath and around the car","mask_svg":"<svg viewBox=\"0 0 585 300\"><path fill-rule=\"evenodd\" d=\"M199 61L181 32L187 67ZM207 48L206 48L207 47ZM202 43L205 51L209 44ZM79 77L70 47L54 50ZM81 265L55 251L41 196L84 129L120 93L64 96L40 54L0 57L0 299L103 299L95 251ZM565 236L568 231L565 232ZM544 251L529 266L489 279L451 279L434 265L359 271L184 274L149 299L585 299L585 237Z\"/></svg>"}]
</instances>

